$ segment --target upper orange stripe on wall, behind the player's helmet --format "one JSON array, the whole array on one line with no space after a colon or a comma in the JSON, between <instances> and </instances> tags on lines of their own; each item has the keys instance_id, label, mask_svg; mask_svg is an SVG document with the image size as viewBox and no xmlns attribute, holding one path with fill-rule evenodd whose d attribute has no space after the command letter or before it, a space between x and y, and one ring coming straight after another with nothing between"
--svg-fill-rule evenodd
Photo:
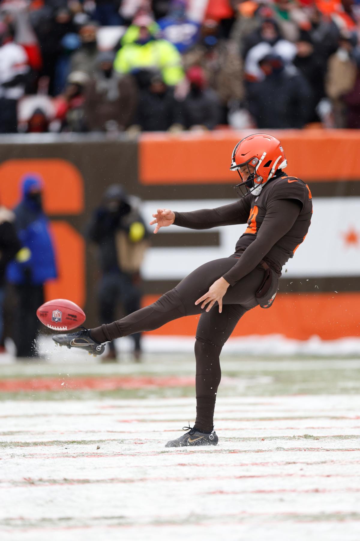
<instances>
[{"instance_id":1,"label":"upper orange stripe on wall, behind the player's helmet","mask_svg":"<svg viewBox=\"0 0 360 541\"><path fill-rule=\"evenodd\" d=\"M229 170L235 144L250 131L219 130L209 134L144 134L139 140L142 184L208 184L239 182ZM288 160L287 172L300 179L341 181L360 179L356 130L283 130L280 138Z\"/></svg>"}]
</instances>

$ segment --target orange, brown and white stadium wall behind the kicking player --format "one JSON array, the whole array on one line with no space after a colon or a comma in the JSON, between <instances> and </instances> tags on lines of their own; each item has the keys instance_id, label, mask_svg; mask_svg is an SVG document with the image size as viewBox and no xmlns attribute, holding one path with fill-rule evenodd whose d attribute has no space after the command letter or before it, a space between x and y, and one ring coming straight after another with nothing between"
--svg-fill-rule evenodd
<instances>
[{"instance_id":1,"label":"orange, brown and white stadium wall behind the kicking player","mask_svg":"<svg viewBox=\"0 0 360 541\"><path fill-rule=\"evenodd\" d=\"M158 206L185 210L234 199L236 174L230 155L248 133L214 131L179 136L146 134L138 141L76 138L0 144L0 198L13 207L26 173L45 183L45 210L52 222L59 279L47 298L67 297L98 324L97 251L86 242L86 225L110 184L120 182L142 200L146 221ZM282 334L308 339L358 335L360 321L360 134L357 131L272 132L281 138L289 174L309 183L314 218L307 239L284 269L269 310L255 308L234 336ZM205 232L168 230L152 237L143 268L144 304L174 287L201 262L230 255L241 226ZM119 314L121 307L119 307ZM193 336L197 317L183 318L158 335Z\"/></svg>"}]
</instances>

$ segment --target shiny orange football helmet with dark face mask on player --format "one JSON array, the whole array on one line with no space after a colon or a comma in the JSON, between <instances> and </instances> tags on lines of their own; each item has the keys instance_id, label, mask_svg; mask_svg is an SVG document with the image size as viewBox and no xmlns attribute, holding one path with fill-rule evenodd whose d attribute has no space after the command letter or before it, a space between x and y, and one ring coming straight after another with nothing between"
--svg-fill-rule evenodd
<instances>
[{"instance_id":1,"label":"shiny orange football helmet with dark face mask on player","mask_svg":"<svg viewBox=\"0 0 360 541\"><path fill-rule=\"evenodd\" d=\"M241 197L248 193L259 195L264 184L274 176L278 169L284 169L288 162L278 139L272 135L254 134L244 137L233 150L230 170L239 173L241 182L235 191ZM249 165L255 167L250 173ZM241 176L240 167L247 166L248 177Z\"/></svg>"}]
</instances>

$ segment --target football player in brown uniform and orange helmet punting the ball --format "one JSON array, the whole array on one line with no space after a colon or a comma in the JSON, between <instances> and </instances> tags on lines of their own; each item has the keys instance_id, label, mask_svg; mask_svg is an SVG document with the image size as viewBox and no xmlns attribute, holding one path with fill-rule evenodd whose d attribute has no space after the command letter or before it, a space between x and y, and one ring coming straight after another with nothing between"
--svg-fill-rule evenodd
<instances>
[{"instance_id":1,"label":"football player in brown uniform and orange helmet punting the ball","mask_svg":"<svg viewBox=\"0 0 360 541\"><path fill-rule=\"evenodd\" d=\"M257 305L269 308L283 265L307 235L313 204L307 184L289 177L280 141L266 134L243 138L230 169L240 175L240 199L214 209L153 214L154 233L172 224L208 229L247 223L234 254L195 269L156 302L108 325L53 337L58 344L101 354L106 341L152 331L185 315L201 314L195 341L196 419L166 447L216 445L213 417L221 378L220 353L241 316Z\"/></svg>"}]
</instances>

